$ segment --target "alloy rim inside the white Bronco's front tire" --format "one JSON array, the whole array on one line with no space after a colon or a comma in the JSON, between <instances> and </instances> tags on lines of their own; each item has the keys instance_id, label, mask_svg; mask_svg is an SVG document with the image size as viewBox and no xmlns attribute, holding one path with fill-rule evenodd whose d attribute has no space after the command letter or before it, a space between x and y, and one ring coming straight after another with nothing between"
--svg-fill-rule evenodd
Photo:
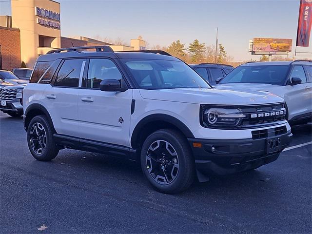
<instances>
[{"instance_id":1,"label":"alloy rim inside the white Bronco's front tire","mask_svg":"<svg viewBox=\"0 0 312 234\"><path fill-rule=\"evenodd\" d=\"M146 154L147 170L159 184L172 183L179 171L179 160L175 148L165 140L156 140Z\"/></svg>"}]
</instances>

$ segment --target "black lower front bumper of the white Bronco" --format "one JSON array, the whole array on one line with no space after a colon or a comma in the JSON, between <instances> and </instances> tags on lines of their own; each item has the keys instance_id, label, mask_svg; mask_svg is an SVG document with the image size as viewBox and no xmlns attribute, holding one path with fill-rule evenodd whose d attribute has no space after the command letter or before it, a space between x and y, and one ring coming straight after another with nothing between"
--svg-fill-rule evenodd
<instances>
[{"instance_id":1,"label":"black lower front bumper of the white Bronco","mask_svg":"<svg viewBox=\"0 0 312 234\"><path fill-rule=\"evenodd\" d=\"M235 140L188 138L195 157L197 175L223 176L273 162L290 144L292 133L289 131L272 135L273 133L259 139ZM275 143L278 145L275 146Z\"/></svg>"}]
</instances>

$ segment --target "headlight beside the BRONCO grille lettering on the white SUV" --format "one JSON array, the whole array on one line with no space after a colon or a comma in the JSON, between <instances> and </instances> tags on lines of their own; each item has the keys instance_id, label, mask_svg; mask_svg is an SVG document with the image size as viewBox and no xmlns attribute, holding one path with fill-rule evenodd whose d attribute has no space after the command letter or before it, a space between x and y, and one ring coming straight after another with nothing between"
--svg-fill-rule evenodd
<instances>
[{"instance_id":1,"label":"headlight beside the BRONCO grille lettering on the white SUV","mask_svg":"<svg viewBox=\"0 0 312 234\"><path fill-rule=\"evenodd\" d=\"M204 122L211 127L235 127L246 117L238 109L210 108L203 112Z\"/></svg>"}]
</instances>

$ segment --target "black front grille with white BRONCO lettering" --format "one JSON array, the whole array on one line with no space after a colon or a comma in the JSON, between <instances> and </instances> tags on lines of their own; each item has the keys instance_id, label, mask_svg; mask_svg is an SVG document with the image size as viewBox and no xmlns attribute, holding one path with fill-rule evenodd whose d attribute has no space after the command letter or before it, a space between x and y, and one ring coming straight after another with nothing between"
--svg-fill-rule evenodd
<instances>
[{"instance_id":1,"label":"black front grille with white BRONCO lettering","mask_svg":"<svg viewBox=\"0 0 312 234\"><path fill-rule=\"evenodd\" d=\"M271 105L241 107L239 110L246 115L240 123L240 127L266 124L285 119L286 109L284 103Z\"/></svg>"}]
</instances>

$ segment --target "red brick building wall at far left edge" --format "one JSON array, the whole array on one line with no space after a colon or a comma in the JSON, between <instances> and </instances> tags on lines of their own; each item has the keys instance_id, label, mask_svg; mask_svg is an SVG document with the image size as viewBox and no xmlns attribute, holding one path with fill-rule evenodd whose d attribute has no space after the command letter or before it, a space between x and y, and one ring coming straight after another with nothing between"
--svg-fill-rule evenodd
<instances>
[{"instance_id":1,"label":"red brick building wall at far left edge","mask_svg":"<svg viewBox=\"0 0 312 234\"><path fill-rule=\"evenodd\" d=\"M20 30L0 27L2 69L20 67Z\"/></svg>"}]
</instances>

